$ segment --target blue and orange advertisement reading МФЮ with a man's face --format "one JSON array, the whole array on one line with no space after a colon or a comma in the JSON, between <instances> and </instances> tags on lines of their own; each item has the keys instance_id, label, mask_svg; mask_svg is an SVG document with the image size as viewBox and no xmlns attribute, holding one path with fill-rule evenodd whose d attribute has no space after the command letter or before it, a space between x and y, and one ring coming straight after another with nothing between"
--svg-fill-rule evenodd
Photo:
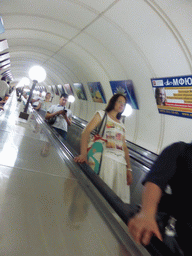
<instances>
[{"instance_id":1,"label":"blue and orange advertisement reading \u041c\u0424\u042e with a man's face","mask_svg":"<svg viewBox=\"0 0 192 256\"><path fill-rule=\"evenodd\" d=\"M152 78L160 114L192 118L192 75Z\"/></svg>"}]
</instances>

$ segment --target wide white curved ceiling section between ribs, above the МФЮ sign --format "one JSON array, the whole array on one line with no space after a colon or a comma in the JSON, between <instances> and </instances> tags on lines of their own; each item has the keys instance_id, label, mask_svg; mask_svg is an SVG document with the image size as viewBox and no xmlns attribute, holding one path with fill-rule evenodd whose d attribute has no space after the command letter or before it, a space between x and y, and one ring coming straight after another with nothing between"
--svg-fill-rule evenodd
<instances>
[{"instance_id":1,"label":"wide white curved ceiling section between ribs, above the \u041c\u0424\u042e sign","mask_svg":"<svg viewBox=\"0 0 192 256\"><path fill-rule=\"evenodd\" d=\"M114 20L117 11L121 15ZM157 15L145 1L121 1L106 16L114 20L137 43L159 74L170 76L173 73L189 73L188 63L174 31L169 29L163 17Z\"/></svg>"}]
</instances>

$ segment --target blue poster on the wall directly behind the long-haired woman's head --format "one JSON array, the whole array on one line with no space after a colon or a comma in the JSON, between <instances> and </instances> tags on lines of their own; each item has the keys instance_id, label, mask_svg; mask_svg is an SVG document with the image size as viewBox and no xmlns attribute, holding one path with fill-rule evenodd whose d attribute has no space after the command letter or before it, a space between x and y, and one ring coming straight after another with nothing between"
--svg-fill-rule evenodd
<instances>
[{"instance_id":1,"label":"blue poster on the wall directly behind the long-haired woman's head","mask_svg":"<svg viewBox=\"0 0 192 256\"><path fill-rule=\"evenodd\" d=\"M132 80L110 81L110 85L113 94L124 94L127 97L127 103L131 105L133 109L139 109Z\"/></svg>"}]
</instances>

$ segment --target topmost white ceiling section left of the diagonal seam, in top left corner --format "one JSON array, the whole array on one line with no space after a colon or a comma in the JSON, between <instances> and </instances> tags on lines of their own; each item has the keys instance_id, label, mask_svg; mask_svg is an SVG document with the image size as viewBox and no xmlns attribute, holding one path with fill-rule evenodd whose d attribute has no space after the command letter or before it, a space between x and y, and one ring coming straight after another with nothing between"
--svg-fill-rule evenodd
<instances>
[{"instance_id":1,"label":"topmost white ceiling section left of the diagonal seam, in top left corner","mask_svg":"<svg viewBox=\"0 0 192 256\"><path fill-rule=\"evenodd\" d=\"M20 0L19 3L11 1L11 4L10 1L4 1L1 5L1 12L49 17L79 28L83 28L96 17L94 10L88 9L81 2L63 0Z\"/></svg>"}]
</instances>

